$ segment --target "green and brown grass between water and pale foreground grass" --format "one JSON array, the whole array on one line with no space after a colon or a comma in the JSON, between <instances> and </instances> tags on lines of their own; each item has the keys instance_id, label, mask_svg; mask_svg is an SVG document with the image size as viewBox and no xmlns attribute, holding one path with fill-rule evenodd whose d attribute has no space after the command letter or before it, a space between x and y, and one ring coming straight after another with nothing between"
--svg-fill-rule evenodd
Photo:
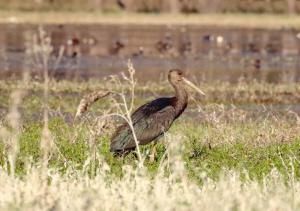
<instances>
[{"instance_id":1,"label":"green and brown grass between water and pale foreground grass","mask_svg":"<svg viewBox=\"0 0 300 211\"><path fill-rule=\"evenodd\" d=\"M92 165L101 168L99 156L106 161L111 169L110 174L114 176L122 176L124 165L136 166L137 158L134 153L122 159L113 157L109 152L113 128L109 127L98 135L91 134L97 131L93 126L95 116L102 115L113 105L110 100L103 99L93 105L87 112L89 121L72 121L81 97L91 90L107 88L109 84L65 81L51 83L53 84L50 86L48 99L49 129L54 143L49 157L51 168L58 169L62 174L70 169L86 169L93 175ZM8 112L11 103L8 90L15 87L16 82L0 82L0 108L4 109L5 113ZM41 88L42 84L32 83L20 105L22 122L16 162L18 175L26 173L26 166L40 165L42 160L40 146L44 123ZM168 132L169 141L179 139L176 142L181 148L179 155L184 160L189 178L201 183L203 172L210 178L217 179L225 169L231 169L240 172L241 175L247 172L251 179L261 181L264 175L275 167L286 178L293 173L300 179L299 120L284 107L290 103L299 103L299 99L282 94L290 92L294 96L299 95L299 85L224 83L219 86L202 84L201 88L207 97L198 99L197 95L192 94L194 100L191 100L186 113ZM153 92L157 96L172 94L169 86L164 83L138 85L136 91L135 107L151 100ZM249 104L263 107L266 105L266 101L263 100L266 96L284 109L243 109ZM222 102L223 104L220 104ZM242 106L232 107L231 104ZM198 106L202 107L202 111L197 111ZM188 114L191 110L194 110L193 115ZM3 117L1 124L8 125L8 120ZM113 125L115 124L113 122ZM0 165L5 167L8 164L7 149L5 137L1 137ZM150 175L155 175L162 161L166 159L165 153L169 153L168 146L164 138L161 138L157 146L156 160L151 163L146 156L145 166ZM150 145L143 146L141 150L146 155L151 149ZM87 163L88 158L93 159Z\"/></svg>"}]
</instances>

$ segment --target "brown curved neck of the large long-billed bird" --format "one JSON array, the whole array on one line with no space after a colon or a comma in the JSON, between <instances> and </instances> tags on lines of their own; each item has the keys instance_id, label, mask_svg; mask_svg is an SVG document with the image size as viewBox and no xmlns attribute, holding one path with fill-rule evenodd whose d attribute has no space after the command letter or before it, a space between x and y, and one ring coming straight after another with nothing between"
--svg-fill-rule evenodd
<instances>
[{"instance_id":1,"label":"brown curved neck of the large long-billed bird","mask_svg":"<svg viewBox=\"0 0 300 211\"><path fill-rule=\"evenodd\" d=\"M176 117L178 117L186 108L188 102L188 94L182 83L172 84L175 89L174 108Z\"/></svg>"}]
</instances>

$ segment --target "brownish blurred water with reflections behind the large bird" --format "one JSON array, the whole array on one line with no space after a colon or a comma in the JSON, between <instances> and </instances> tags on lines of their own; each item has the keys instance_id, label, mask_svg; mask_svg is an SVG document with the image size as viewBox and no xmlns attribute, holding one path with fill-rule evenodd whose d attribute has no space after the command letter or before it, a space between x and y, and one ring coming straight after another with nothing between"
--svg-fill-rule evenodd
<instances>
[{"instance_id":1,"label":"brownish blurred water with reflections behind the large bird","mask_svg":"<svg viewBox=\"0 0 300 211\"><path fill-rule=\"evenodd\" d=\"M25 68L38 74L25 54L37 26L0 27L0 75ZM206 81L300 81L300 34L294 29L91 24L48 25L45 30L54 46L49 68L57 78L116 74L130 58L139 80L156 80L170 68L182 68ZM63 56L56 63L60 49Z\"/></svg>"}]
</instances>

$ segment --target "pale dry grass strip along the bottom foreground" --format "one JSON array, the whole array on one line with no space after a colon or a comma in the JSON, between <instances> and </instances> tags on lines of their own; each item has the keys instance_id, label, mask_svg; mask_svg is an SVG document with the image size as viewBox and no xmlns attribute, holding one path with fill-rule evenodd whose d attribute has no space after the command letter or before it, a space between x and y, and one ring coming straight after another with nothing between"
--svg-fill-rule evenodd
<instances>
[{"instance_id":1,"label":"pale dry grass strip along the bottom foreground","mask_svg":"<svg viewBox=\"0 0 300 211\"><path fill-rule=\"evenodd\" d=\"M95 178L77 171L60 175L49 169L47 181L38 168L29 168L23 178L0 170L0 208L2 210L298 210L300 183L291 178L284 184L273 170L263 184L226 171L219 181L203 173L201 187L172 172L154 179L142 170L124 166L124 177L106 177L108 166L102 165ZM180 177L178 177L180 176Z\"/></svg>"}]
</instances>

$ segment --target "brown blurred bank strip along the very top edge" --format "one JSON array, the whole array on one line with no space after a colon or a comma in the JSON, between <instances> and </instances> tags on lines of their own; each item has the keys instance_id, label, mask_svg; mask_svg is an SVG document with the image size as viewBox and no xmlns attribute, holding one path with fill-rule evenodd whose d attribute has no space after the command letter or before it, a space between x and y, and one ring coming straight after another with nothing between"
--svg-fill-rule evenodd
<instances>
[{"instance_id":1,"label":"brown blurred bank strip along the very top edge","mask_svg":"<svg viewBox=\"0 0 300 211\"><path fill-rule=\"evenodd\" d=\"M298 0L0 0L0 9L146 13L300 13Z\"/></svg>"}]
</instances>

